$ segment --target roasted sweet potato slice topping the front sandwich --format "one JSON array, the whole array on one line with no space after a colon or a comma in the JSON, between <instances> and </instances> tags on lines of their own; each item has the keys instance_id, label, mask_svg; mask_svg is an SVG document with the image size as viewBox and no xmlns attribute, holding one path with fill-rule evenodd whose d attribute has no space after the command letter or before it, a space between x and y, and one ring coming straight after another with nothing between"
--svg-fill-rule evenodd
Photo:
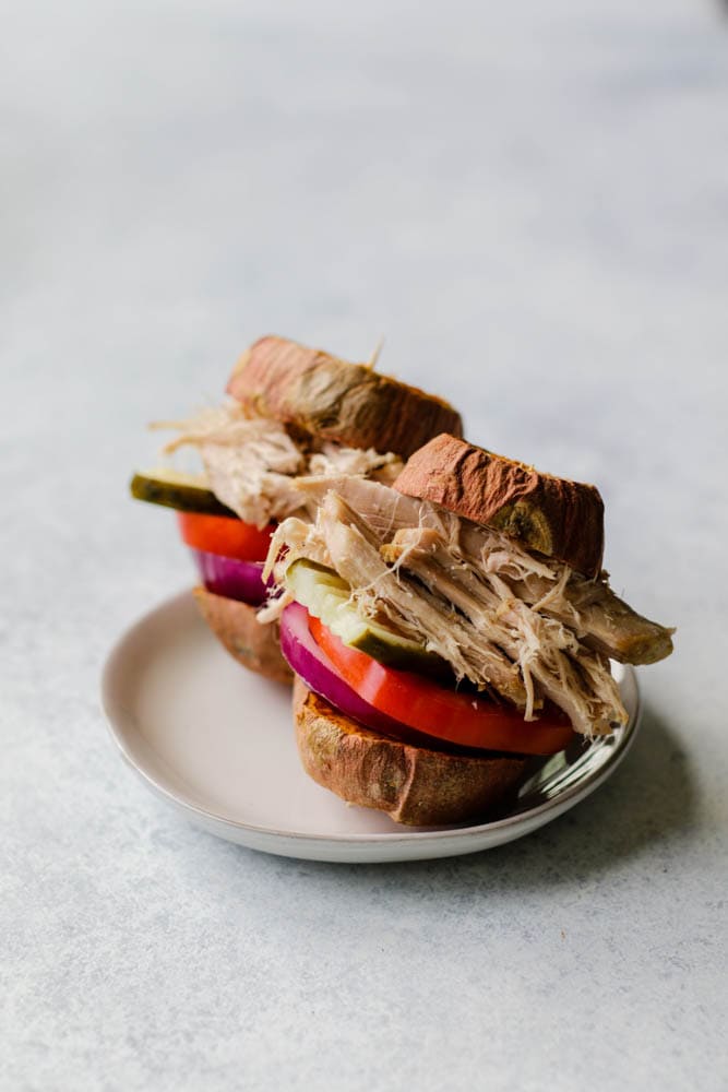
<instances>
[{"instance_id":1,"label":"roasted sweet potato slice topping the front sandwich","mask_svg":"<svg viewBox=\"0 0 728 1092\"><path fill-rule=\"evenodd\" d=\"M604 555L604 502L593 485L540 474L455 436L437 436L394 482L409 497L516 538L595 578Z\"/></svg>"}]
</instances>

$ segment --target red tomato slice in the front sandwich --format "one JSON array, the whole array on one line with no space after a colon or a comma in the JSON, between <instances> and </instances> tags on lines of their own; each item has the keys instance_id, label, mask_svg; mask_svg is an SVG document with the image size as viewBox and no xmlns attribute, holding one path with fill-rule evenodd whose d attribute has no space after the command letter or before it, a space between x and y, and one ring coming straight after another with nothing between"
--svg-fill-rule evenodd
<instances>
[{"instance_id":1,"label":"red tomato slice in the front sandwich","mask_svg":"<svg viewBox=\"0 0 728 1092\"><path fill-rule=\"evenodd\" d=\"M417 732L462 747L556 755L574 737L569 719L550 709L538 721L524 721L517 710L497 705L478 695L462 693L413 672L399 672L349 649L309 616L317 644L342 678L381 713Z\"/></svg>"}]
</instances>

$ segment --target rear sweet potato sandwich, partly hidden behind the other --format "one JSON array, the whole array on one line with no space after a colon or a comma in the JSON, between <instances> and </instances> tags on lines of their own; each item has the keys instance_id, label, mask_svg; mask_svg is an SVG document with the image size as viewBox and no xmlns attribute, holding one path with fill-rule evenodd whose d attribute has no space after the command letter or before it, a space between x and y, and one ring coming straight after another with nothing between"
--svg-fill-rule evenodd
<instances>
[{"instance_id":1,"label":"rear sweet potato sandwich, partly hidden behind the other","mask_svg":"<svg viewBox=\"0 0 728 1092\"><path fill-rule=\"evenodd\" d=\"M202 580L195 598L225 648L246 667L281 681L277 624L255 615L266 597L263 561L278 522L307 519L296 487L353 478L392 483L403 461L443 429L462 432L441 399L284 337L262 337L240 358L230 397L178 423L164 449L195 448L204 473L134 475L133 496L178 510Z\"/></svg>"}]
</instances>

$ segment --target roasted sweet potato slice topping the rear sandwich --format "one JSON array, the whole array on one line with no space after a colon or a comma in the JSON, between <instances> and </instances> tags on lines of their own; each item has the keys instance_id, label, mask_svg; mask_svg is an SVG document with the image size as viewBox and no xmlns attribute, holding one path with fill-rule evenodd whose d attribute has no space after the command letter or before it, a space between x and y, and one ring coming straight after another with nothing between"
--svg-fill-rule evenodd
<instances>
[{"instance_id":1,"label":"roasted sweet potato slice topping the rear sandwich","mask_svg":"<svg viewBox=\"0 0 728 1092\"><path fill-rule=\"evenodd\" d=\"M322 440L407 459L438 432L463 435L449 402L286 337L261 337L243 353L227 392L247 410Z\"/></svg>"}]
</instances>

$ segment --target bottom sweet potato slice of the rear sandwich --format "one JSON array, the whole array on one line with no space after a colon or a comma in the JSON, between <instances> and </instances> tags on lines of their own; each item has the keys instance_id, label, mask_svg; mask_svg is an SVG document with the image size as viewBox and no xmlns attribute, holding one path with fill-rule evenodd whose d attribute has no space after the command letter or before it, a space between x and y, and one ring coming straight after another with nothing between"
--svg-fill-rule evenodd
<instances>
[{"instance_id":1,"label":"bottom sweet potato slice of the rear sandwich","mask_svg":"<svg viewBox=\"0 0 728 1092\"><path fill-rule=\"evenodd\" d=\"M214 595L205 587L195 587L194 597L213 633L239 664L277 682L293 680L294 673L281 652L277 621L261 626L255 618L258 607Z\"/></svg>"}]
</instances>

